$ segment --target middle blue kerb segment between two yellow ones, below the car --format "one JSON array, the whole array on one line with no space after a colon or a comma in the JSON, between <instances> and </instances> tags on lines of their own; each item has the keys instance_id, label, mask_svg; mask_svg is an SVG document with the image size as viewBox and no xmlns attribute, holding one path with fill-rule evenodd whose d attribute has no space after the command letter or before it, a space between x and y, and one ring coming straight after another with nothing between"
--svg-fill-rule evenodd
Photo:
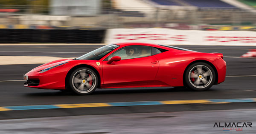
<instances>
[{"instance_id":1,"label":"middle blue kerb segment between two yellow ones, below the car","mask_svg":"<svg viewBox=\"0 0 256 134\"><path fill-rule=\"evenodd\" d=\"M162 105L159 101L144 101L144 102L123 102L123 103L108 103L113 106L127 106L127 105Z\"/></svg>"}]
</instances>

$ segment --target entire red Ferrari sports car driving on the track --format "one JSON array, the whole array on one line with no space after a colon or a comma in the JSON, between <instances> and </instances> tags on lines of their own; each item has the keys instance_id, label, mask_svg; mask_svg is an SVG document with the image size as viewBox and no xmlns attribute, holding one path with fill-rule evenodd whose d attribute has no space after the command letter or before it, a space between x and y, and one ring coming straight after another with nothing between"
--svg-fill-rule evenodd
<instances>
[{"instance_id":1,"label":"entire red Ferrari sports car driving on the track","mask_svg":"<svg viewBox=\"0 0 256 134\"><path fill-rule=\"evenodd\" d=\"M188 87L205 91L225 80L221 53L149 43L109 44L75 59L55 60L24 75L25 87L90 94L96 88Z\"/></svg>"}]
</instances>

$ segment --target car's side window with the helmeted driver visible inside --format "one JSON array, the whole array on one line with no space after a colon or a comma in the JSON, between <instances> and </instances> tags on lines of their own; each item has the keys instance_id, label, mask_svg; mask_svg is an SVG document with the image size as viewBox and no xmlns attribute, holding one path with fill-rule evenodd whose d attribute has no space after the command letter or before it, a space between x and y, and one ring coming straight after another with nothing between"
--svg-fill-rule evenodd
<instances>
[{"instance_id":1,"label":"car's side window with the helmeted driver visible inside","mask_svg":"<svg viewBox=\"0 0 256 134\"><path fill-rule=\"evenodd\" d=\"M114 52L108 57L108 60L114 56L121 57L121 60L125 59L134 59L140 57L151 56L151 47L150 46L126 46L120 50Z\"/></svg>"}]
</instances>

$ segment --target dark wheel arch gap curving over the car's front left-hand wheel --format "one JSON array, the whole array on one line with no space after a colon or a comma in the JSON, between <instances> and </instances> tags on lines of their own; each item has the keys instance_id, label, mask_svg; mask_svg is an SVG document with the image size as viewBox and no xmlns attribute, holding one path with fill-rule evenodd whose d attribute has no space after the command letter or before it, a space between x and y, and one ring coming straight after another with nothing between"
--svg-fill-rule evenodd
<instances>
[{"instance_id":1,"label":"dark wheel arch gap curving over the car's front left-hand wheel","mask_svg":"<svg viewBox=\"0 0 256 134\"><path fill-rule=\"evenodd\" d=\"M76 70L77 68L81 68L81 67L87 67L87 68L90 68L92 69L93 71L96 72L97 76L98 76L98 79L99 79L99 84L97 86L97 88L100 87L100 83L101 83L101 78L100 78L100 75L99 75L99 72L96 70L96 68L94 68L93 66L90 66L90 65L87 65L87 64L79 64L77 66L74 66L73 68L71 68L68 72L67 72L67 75L65 77L65 86L67 88L67 83L68 83L68 78L70 77L70 74Z\"/></svg>"}]
</instances>

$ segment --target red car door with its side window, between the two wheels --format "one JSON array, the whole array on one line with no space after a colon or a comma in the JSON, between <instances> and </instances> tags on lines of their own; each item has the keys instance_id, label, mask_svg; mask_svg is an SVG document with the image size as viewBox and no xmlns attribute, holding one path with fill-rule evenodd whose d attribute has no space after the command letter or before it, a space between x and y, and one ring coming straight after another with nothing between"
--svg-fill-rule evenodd
<instances>
[{"instance_id":1,"label":"red car door with its side window, between the two wheels","mask_svg":"<svg viewBox=\"0 0 256 134\"><path fill-rule=\"evenodd\" d=\"M132 52L131 49L134 51ZM114 56L121 57L121 60L107 64ZM156 77L158 67L158 60L152 56L150 46L120 48L102 61L104 86L151 83Z\"/></svg>"}]
</instances>

